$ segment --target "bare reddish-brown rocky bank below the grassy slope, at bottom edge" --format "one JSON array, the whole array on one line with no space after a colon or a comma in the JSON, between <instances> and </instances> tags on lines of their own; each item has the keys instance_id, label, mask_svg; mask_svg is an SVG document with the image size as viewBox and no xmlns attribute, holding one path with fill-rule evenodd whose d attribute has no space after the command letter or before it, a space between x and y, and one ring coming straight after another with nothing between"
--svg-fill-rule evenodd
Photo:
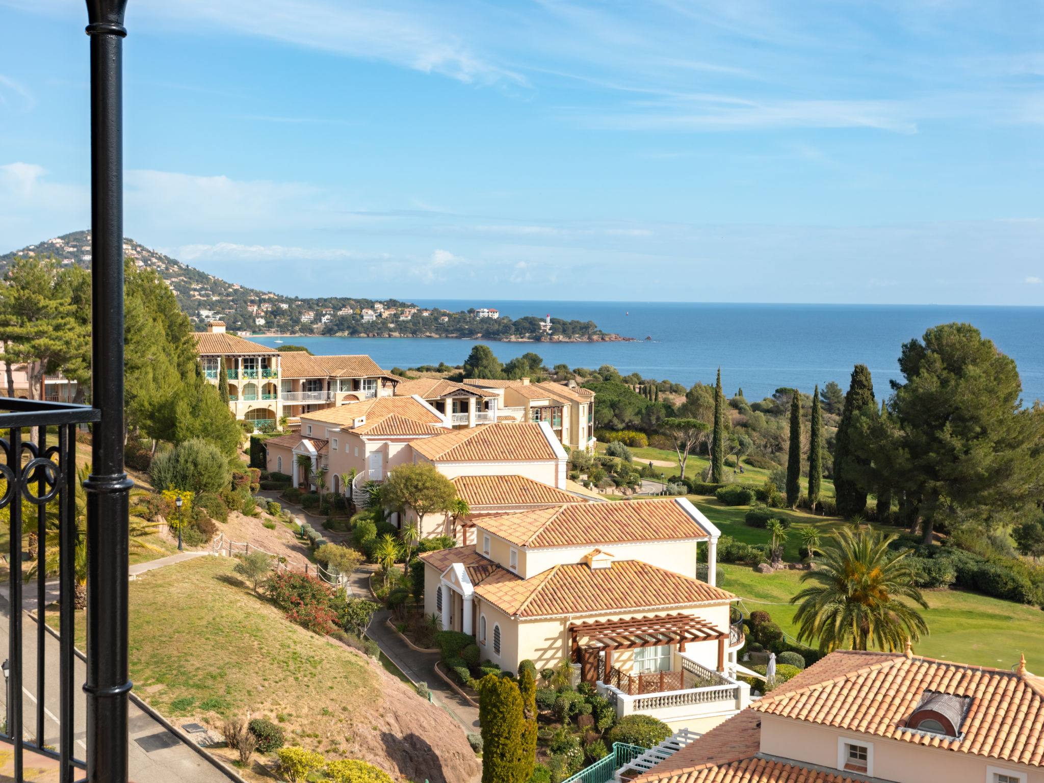
<instances>
[{"instance_id":1,"label":"bare reddish-brown rocky bank below the grassy slope, at bottom edge","mask_svg":"<svg viewBox=\"0 0 1044 783\"><path fill-rule=\"evenodd\" d=\"M331 640L331 644L338 642ZM355 705L345 755L369 761L396 780L477 781L482 764L460 725L379 663L366 660L379 678L381 697L373 704Z\"/></svg>"}]
</instances>

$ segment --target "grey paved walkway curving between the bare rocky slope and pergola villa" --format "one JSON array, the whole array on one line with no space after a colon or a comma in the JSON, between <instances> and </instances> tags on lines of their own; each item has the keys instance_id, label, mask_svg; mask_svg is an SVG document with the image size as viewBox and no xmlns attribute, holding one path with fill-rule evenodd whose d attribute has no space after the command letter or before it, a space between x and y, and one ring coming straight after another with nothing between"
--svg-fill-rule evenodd
<instances>
[{"instance_id":1,"label":"grey paved walkway curving between the bare rocky slope and pergola villa","mask_svg":"<svg viewBox=\"0 0 1044 783\"><path fill-rule=\"evenodd\" d=\"M349 578L349 587L352 595L357 598L373 600L374 596L370 592L370 574L377 570L377 566L360 566L352 572ZM366 636L373 639L380 646L381 650L402 672L413 682L424 682L428 684L431 691L432 701L446 710L453 718L460 723L468 734L478 734L478 708L472 707L462 698L449 684L443 680L435 671L435 662L438 661L437 652L419 652L407 645L392 631L384 622L392 613L386 609L378 610L374 613L366 628Z\"/></svg>"}]
</instances>

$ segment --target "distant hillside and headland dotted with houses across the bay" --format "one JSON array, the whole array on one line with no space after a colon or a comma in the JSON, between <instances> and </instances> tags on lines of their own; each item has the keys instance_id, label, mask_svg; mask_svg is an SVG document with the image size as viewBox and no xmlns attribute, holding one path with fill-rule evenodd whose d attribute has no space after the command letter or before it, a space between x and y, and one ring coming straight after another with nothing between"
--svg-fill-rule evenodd
<instances>
[{"instance_id":1,"label":"distant hillside and headland dotted with houses across the bay","mask_svg":"<svg viewBox=\"0 0 1044 783\"><path fill-rule=\"evenodd\" d=\"M476 317L474 310L449 312L421 310L399 300L376 301L362 298L327 296L308 299L261 291L229 283L194 266L149 250L133 239L123 240L123 253L139 267L156 269L177 296L177 303L196 324L206 328L220 318L230 331L255 334L329 334L380 337L482 337L484 339L528 340L618 340L602 334L593 322L551 318L550 334L541 332L540 319L526 316ZM19 256L53 256L63 264L91 268L91 232L76 231L45 242L30 244L0 256L0 276ZM373 311L366 319L364 311ZM388 313L390 311L390 313ZM427 314L425 314L427 313Z\"/></svg>"}]
</instances>

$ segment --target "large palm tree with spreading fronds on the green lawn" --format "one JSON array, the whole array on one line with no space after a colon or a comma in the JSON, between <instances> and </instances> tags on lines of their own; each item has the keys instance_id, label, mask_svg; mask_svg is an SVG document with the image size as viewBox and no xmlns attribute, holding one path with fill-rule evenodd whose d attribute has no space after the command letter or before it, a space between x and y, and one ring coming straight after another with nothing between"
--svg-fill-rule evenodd
<instances>
[{"instance_id":1,"label":"large palm tree with spreading fronds on the green lawn","mask_svg":"<svg viewBox=\"0 0 1044 783\"><path fill-rule=\"evenodd\" d=\"M927 634L924 618L902 600L928 608L914 586L914 570L904 562L908 552L892 556L888 551L896 536L843 527L832 537L818 568L801 577L814 584L790 599L801 603L793 617L798 640L818 639L822 650L849 645L864 650L874 644L894 652L907 638L918 641Z\"/></svg>"}]
</instances>

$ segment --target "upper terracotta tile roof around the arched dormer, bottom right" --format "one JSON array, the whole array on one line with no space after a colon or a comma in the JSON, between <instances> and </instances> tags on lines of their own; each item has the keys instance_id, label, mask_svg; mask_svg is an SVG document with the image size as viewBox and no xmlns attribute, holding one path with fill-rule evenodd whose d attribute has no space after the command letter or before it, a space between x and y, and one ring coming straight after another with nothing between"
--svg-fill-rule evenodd
<instances>
[{"instance_id":1,"label":"upper terracotta tile roof around the arched dormer, bottom right","mask_svg":"<svg viewBox=\"0 0 1044 783\"><path fill-rule=\"evenodd\" d=\"M833 652L826 660L837 656L851 654ZM854 671L829 677L831 672L823 669L829 679L808 682L812 678L806 678L807 684L774 691L752 709L902 742L1041 765L1044 687L1039 678L918 656L854 660L861 664ZM971 697L962 737L903 731L925 690Z\"/></svg>"}]
</instances>

